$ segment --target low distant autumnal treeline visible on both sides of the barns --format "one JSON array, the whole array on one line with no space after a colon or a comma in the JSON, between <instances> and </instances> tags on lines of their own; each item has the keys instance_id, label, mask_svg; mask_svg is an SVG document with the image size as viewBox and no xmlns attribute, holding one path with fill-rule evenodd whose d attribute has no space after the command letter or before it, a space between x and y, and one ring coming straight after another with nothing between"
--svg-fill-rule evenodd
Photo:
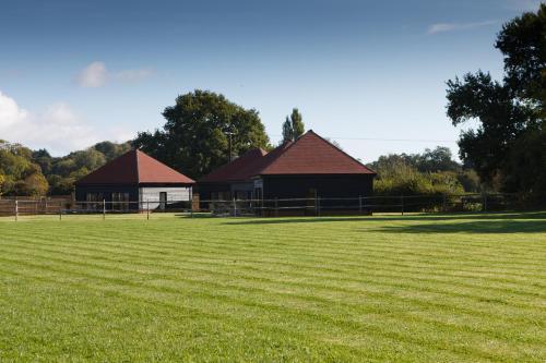
<instances>
[{"instance_id":1,"label":"low distant autumnal treeline visible on both sides of the barns","mask_svg":"<svg viewBox=\"0 0 546 363\"><path fill-rule=\"evenodd\" d=\"M63 157L0 141L0 193L66 195L74 182L131 148L131 143L102 142ZM480 190L476 172L453 160L447 147L423 154L391 154L368 165L378 172L378 194L464 193Z\"/></svg>"}]
</instances>

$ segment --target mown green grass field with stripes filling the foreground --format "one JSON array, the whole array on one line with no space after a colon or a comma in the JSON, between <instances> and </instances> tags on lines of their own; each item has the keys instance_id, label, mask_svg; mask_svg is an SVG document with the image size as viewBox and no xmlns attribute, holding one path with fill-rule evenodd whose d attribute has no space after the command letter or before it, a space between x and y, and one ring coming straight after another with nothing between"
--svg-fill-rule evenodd
<instances>
[{"instance_id":1,"label":"mown green grass field with stripes filling the foreground","mask_svg":"<svg viewBox=\"0 0 546 363\"><path fill-rule=\"evenodd\" d=\"M0 361L546 361L546 214L0 218Z\"/></svg>"}]
</instances>

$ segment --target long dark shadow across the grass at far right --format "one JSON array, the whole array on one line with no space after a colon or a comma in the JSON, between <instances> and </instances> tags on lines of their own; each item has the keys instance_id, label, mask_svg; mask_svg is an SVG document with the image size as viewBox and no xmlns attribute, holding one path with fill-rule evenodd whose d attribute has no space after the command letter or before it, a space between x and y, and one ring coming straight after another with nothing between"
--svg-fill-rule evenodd
<instances>
[{"instance_id":1,"label":"long dark shadow across the grass at far right","mask_svg":"<svg viewBox=\"0 0 546 363\"><path fill-rule=\"evenodd\" d=\"M395 233L517 233L546 232L546 213L499 213L499 214L438 214L410 216L373 216L373 217L284 217L284 218L250 218L229 219L225 225L285 225L314 222L404 222L420 221L404 226L385 223L383 227L366 231ZM373 226L376 227L376 226Z\"/></svg>"}]
</instances>

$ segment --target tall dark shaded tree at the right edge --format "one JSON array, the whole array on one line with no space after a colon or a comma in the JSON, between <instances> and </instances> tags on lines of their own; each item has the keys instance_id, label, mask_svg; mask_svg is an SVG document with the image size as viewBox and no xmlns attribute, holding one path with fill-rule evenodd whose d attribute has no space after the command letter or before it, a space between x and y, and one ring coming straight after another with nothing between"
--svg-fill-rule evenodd
<instances>
[{"instance_id":1,"label":"tall dark shaded tree at the right edge","mask_svg":"<svg viewBox=\"0 0 546 363\"><path fill-rule=\"evenodd\" d=\"M505 57L502 81L482 71L448 81L448 116L453 125L479 122L461 133L460 156L489 186L544 192L546 180L539 173L522 173L513 162L521 159L523 145L542 150L527 160L530 170L544 168L546 162L546 145L538 136L545 128L546 5L505 24L496 47ZM522 178L533 178L533 182Z\"/></svg>"}]
</instances>

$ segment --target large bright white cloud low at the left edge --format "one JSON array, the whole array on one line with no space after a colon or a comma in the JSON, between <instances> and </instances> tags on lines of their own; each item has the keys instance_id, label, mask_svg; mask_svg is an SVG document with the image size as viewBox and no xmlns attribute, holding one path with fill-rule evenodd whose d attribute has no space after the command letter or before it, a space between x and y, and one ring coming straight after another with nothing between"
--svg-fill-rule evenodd
<instances>
[{"instance_id":1,"label":"large bright white cloud low at the left edge","mask_svg":"<svg viewBox=\"0 0 546 363\"><path fill-rule=\"evenodd\" d=\"M39 113L21 108L13 98L0 92L0 138L31 148L46 148L52 155L88 147L103 140L127 141L134 136L122 129L106 130L102 137L84 118L68 104L56 102ZM127 137L127 138L126 138Z\"/></svg>"}]
</instances>

